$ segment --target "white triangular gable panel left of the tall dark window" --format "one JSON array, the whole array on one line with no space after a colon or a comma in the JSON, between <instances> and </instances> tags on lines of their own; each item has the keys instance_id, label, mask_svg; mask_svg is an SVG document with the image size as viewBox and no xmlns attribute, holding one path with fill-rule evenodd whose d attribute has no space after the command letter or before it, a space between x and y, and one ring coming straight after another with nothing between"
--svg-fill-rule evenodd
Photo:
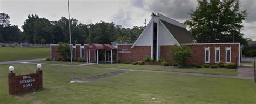
<instances>
[{"instance_id":1,"label":"white triangular gable panel left of the tall dark window","mask_svg":"<svg viewBox=\"0 0 256 104\"><path fill-rule=\"evenodd\" d=\"M134 44L132 45L132 48L134 48L135 46L151 46L152 44L152 28L151 28L151 23L152 21L150 20L149 24L146 26L146 28L144 29L144 31L142 32L142 34L139 35L139 38L134 42Z\"/></svg>"}]
</instances>

